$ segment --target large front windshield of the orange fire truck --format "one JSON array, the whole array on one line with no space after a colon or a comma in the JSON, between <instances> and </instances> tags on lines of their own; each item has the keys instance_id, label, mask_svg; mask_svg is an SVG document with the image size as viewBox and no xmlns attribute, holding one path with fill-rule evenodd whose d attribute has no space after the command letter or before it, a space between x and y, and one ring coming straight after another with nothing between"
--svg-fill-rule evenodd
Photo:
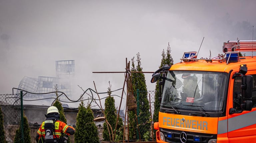
<instances>
[{"instance_id":1,"label":"large front windshield of the orange fire truck","mask_svg":"<svg viewBox=\"0 0 256 143\"><path fill-rule=\"evenodd\" d=\"M169 71L161 107L183 111L222 112L227 73Z\"/></svg>"}]
</instances>

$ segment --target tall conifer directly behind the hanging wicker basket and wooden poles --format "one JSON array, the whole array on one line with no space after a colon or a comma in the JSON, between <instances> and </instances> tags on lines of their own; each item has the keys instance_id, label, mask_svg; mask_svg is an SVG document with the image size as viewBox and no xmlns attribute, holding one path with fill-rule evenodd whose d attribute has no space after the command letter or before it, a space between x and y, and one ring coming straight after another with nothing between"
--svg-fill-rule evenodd
<instances>
[{"instance_id":1,"label":"tall conifer directly behind the hanging wicker basket and wooden poles","mask_svg":"<svg viewBox=\"0 0 256 143\"><path fill-rule=\"evenodd\" d=\"M131 71L142 72L143 68L141 67L140 53L137 53L136 61L137 61L137 66L135 67L134 58L132 58ZM151 126L150 112L149 112L149 101L147 98L147 85L146 85L144 73L132 73L132 86L133 86L133 91L136 91L137 89L140 91L139 92L139 100L137 101L137 105L138 105L137 118L138 118L138 127L139 127L139 133L140 133L139 136L141 139L144 139L144 134L147 131L150 131L150 126ZM135 93L134 95L137 96L137 93ZM135 99L137 99L137 97L135 97ZM137 122L136 119L134 119L134 117L136 117L136 114L134 114L134 112L131 111L129 114L129 121L130 121L130 117L133 118L131 120L131 124L134 125ZM129 125L130 125L130 122L129 122ZM136 131L136 128L137 127L134 126L132 129L134 129ZM131 134L132 136L130 135L130 137L134 138L134 133L133 132L131 132L131 133L132 133Z\"/></svg>"}]
</instances>

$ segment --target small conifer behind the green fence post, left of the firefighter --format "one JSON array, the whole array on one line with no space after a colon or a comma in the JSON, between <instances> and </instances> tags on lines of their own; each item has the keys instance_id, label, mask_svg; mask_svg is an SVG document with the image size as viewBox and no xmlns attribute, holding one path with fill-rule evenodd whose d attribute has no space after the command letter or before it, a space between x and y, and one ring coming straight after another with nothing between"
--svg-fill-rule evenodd
<instances>
[{"instance_id":1,"label":"small conifer behind the green fence post, left of the firefighter","mask_svg":"<svg viewBox=\"0 0 256 143\"><path fill-rule=\"evenodd\" d=\"M28 119L23 113L23 135L24 135L24 143L31 143L31 136L30 136L30 127L28 125ZM15 143L22 143L22 132L21 132L21 125L15 132L14 137Z\"/></svg>"}]
</instances>

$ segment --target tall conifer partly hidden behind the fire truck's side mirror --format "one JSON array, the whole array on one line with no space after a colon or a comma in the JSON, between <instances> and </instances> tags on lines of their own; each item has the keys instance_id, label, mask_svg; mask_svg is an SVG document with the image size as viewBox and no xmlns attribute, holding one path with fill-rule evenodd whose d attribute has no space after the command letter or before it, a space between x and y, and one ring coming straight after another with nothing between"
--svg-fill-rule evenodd
<instances>
[{"instance_id":1,"label":"tall conifer partly hidden behind the fire truck's side mirror","mask_svg":"<svg viewBox=\"0 0 256 143\"><path fill-rule=\"evenodd\" d=\"M166 54L165 51L163 49L162 51L162 59L161 59L161 64L159 66L159 68L161 68L164 65L173 65L173 58L171 56L171 49L170 49L170 44L168 42L168 46L167 46L167 50L166 50ZM159 81L156 82L156 88L155 88L155 102L154 102L154 114L153 114L153 122L158 122L158 112L160 110L160 102L159 102L159 91L161 89L159 89ZM155 138L155 131L154 131L154 138Z\"/></svg>"}]
</instances>

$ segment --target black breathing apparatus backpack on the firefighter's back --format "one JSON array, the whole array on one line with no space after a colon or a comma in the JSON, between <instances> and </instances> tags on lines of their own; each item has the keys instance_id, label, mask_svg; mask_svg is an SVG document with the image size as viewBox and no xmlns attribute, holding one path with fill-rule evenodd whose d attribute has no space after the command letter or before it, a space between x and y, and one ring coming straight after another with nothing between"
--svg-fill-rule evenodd
<instances>
[{"instance_id":1,"label":"black breathing apparatus backpack on the firefighter's back","mask_svg":"<svg viewBox=\"0 0 256 143\"><path fill-rule=\"evenodd\" d=\"M46 119L44 121L44 129L45 129L45 143L54 143L56 139L53 138L53 134L55 133L54 121L52 119Z\"/></svg>"}]
</instances>

